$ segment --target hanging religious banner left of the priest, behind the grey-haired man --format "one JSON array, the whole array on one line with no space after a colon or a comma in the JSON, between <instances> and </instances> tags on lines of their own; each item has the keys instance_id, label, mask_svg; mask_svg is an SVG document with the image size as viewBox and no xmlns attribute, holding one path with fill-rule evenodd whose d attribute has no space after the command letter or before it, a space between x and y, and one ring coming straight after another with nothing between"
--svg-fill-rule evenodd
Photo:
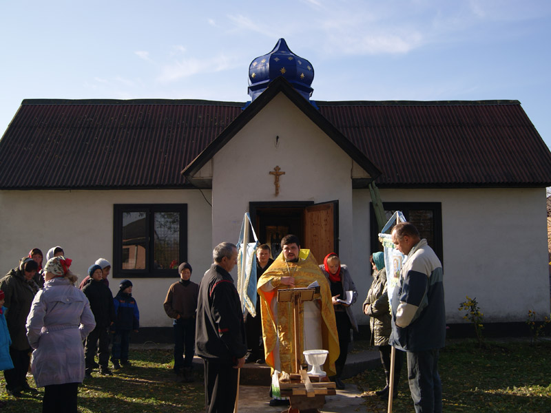
<instances>
[{"instance_id":1,"label":"hanging religious banner left of the priest, behind the grey-haired man","mask_svg":"<svg viewBox=\"0 0 551 413\"><path fill-rule=\"evenodd\" d=\"M245 243L245 240L249 240L249 224L255 242ZM241 309L245 314L245 308L247 308L249 313L256 317L256 248L260 245L260 242L258 242L248 212L243 217L239 240L236 245L238 251L237 290L241 299Z\"/></svg>"}]
</instances>

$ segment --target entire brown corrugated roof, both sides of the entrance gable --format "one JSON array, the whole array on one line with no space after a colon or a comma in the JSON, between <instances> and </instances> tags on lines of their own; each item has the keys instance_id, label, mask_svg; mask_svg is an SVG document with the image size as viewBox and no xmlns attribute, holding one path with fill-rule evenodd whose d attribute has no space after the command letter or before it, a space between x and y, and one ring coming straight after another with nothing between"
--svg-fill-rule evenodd
<instances>
[{"instance_id":1,"label":"entire brown corrugated roof, both sides of the entrance gable","mask_svg":"<svg viewBox=\"0 0 551 413\"><path fill-rule=\"evenodd\" d=\"M549 186L551 153L516 100L316 102L381 187ZM176 188L242 112L206 100L23 100L1 189Z\"/></svg>"}]
</instances>

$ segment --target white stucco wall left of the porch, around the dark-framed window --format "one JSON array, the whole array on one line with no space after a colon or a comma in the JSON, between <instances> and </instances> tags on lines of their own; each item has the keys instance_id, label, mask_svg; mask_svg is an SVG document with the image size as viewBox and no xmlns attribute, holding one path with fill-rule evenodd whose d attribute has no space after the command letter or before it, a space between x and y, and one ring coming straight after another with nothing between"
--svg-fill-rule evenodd
<instances>
[{"instance_id":1,"label":"white stucco wall left of the porch, around the dark-framed window","mask_svg":"<svg viewBox=\"0 0 551 413\"><path fill-rule=\"evenodd\" d=\"M211 191L203 190L207 200ZM71 270L82 280L98 257L113 262L113 204L187 204L188 261L191 280L211 264L211 207L198 190L149 191L0 191L0 268L17 266L32 248L45 255L61 245L73 260ZM110 275L113 295L121 278ZM163 301L178 278L133 278L132 295L141 310L141 326L171 326Z\"/></svg>"}]
</instances>

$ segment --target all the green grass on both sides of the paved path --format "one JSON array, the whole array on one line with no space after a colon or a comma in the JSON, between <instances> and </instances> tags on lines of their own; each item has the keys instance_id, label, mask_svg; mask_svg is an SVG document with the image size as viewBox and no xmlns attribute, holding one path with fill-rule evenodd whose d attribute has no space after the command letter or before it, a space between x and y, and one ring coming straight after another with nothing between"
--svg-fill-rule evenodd
<instances>
[{"instance_id":1,"label":"all the green grass on both sides of the paved path","mask_svg":"<svg viewBox=\"0 0 551 413\"><path fill-rule=\"evenodd\" d=\"M356 342L355 348L369 347ZM112 377L94 374L79 387L79 412L202 412L202 370L196 371L194 383L178 383L172 372L172 350L131 350L130 354L132 368L114 371ZM484 348L473 340L451 341L440 352L439 372L446 413L551 413L551 341L535 345L528 339L496 341ZM41 411L42 388L38 394L15 399L6 394L6 382L0 376L2 413ZM32 377L28 380L34 387ZM382 367L346 382L363 391L368 412L386 412L386 401L374 393L384 385ZM393 412L413 412L405 366Z\"/></svg>"}]
</instances>

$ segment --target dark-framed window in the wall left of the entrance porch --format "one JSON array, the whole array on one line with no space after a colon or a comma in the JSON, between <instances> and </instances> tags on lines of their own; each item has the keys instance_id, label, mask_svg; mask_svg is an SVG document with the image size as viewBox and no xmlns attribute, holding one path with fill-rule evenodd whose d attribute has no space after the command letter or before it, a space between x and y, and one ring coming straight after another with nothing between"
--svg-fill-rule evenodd
<instances>
[{"instance_id":1,"label":"dark-framed window in the wall left of the entrance porch","mask_svg":"<svg viewBox=\"0 0 551 413\"><path fill-rule=\"evenodd\" d=\"M187 204L114 204L113 277L178 277Z\"/></svg>"}]
</instances>

